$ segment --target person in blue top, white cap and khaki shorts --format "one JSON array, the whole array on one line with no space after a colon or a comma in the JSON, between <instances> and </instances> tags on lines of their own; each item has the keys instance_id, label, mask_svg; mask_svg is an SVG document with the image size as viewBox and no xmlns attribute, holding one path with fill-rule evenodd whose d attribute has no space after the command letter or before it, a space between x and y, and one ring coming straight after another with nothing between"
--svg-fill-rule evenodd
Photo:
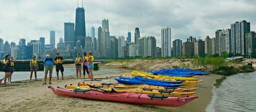
<instances>
[{"instance_id":1,"label":"person in blue top, white cap and khaki shorts","mask_svg":"<svg viewBox=\"0 0 256 112\"><path fill-rule=\"evenodd\" d=\"M50 57L49 54L47 54L44 59L44 83L43 83L43 85L46 85L48 71L49 71L49 84L52 84L51 81L52 81L53 65L54 65L53 59Z\"/></svg>"}]
</instances>

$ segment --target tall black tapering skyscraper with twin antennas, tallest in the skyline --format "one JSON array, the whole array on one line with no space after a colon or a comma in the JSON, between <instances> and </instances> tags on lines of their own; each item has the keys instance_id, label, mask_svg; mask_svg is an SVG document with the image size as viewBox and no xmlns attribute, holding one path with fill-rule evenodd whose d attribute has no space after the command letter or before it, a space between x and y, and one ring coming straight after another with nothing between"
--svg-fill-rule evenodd
<instances>
[{"instance_id":1,"label":"tall black tapering skyscraper with twin antennas, tallest in the skyline","mask_svg":"<svg viewBox=\"0 0 256 112\"><path fill-rule=\"evenodd\" d=\"M76 25L75 25L75 42L78 40L81 42L81 45L85 45L85 18L84 18L84 8L77 7L76 9Z\"/></svg>"}]
</instances>

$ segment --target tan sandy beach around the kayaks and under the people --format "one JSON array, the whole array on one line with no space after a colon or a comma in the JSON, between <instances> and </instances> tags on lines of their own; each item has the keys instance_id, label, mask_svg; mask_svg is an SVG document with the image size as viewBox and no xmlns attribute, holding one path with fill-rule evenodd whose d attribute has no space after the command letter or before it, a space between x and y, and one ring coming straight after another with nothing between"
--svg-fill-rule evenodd
<instances>
[{"instance_id":1,"label":"tan sandy beach around the kayaks and under the people","mask_svg":"<svg viewBox=\"0 0 256 112\"><path fill-rule=\"evenodd\" d=\"M69 67L69 66L66 66ZM71 66L70 66L71 67ZM105 66L101 66L105 67ZM117 68L118 69L118 68ZM130 74L131 69L118 69L120 73L95 75L94 78L119 76L120 74ZM211 101L212 84L220 75L196 76L203 82L196 86L195 99L182 107L158 107L145 105L130 105L126 103L115 103L107 101L86 100L79 98L59 97L48 89L49 84L42 85L42 81L19 82L18 86L0 87L0 107L1 111L205 111L206 106ZM67 84L83 82L83 79L64 80L53 78L52 86L64 87ZM95 83L117 83L115 79L103 79Z\"/></svg>"}]
</instances>

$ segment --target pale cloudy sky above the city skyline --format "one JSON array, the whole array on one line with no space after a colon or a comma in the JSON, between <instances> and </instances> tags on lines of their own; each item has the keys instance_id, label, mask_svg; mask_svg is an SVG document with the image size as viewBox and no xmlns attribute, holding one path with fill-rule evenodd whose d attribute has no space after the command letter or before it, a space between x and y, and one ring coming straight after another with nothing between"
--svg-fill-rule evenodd
<instances>
[{"instance_id":1,"label":"pale cloudy sky above the city skyline","mask_svg":"<svg viewBox=\"0 0 256 112\"><path fill-rule=\"evenodd\" d=\"M82 7L82 0L78 0ZM140 36L154 36L161 46L161 29L171 28L171 39L186 41L189 36L204 39L215 37L218 29L230 28L231 23L246 20L256 30L255 1L168 1L168 0L84 0L86 36L91 27L109 20L111 36L127 37L140 28ZM77 0L0 0L0 38L18 44L45 37L50 43L50 30L56 31L55 41L64 37L64 22L75 23Z\"/></svg>"}]
</instances>

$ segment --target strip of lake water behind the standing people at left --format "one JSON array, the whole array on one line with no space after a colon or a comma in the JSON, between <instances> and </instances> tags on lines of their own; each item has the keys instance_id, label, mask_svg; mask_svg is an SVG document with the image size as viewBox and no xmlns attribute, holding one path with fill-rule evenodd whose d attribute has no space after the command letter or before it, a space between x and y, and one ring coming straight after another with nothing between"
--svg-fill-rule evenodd
<instances>
[{"instance_id":1,"label":"strip of lake water behind the standing people at left","mask_svg":"<svg viewBox=\"0 0 256 112\"><path fill-rule=\"evenodd\" d=\"M83 76L83 69L82 76ZM100 75L100 74L108 74L108 73L118 73L119 71L116 69L106 69L106 68L100 68L99 70L93 70L93 75ZM73 76L76 77L76 70L75 68L65 68L64 70L64 76ZM57 77L55 68L53 68L53 77ZM59 72L59 76L61 77L61 73ZM87 73L86 73L87 76ZM4 77L4 72L0 72L0 78ZM49 77L49 75L48 75ZM37 78L44 78L44 71L37 71ZM12 81L22 81L30 79L30 71L17 71L13 73L12 75ZM35 79L35 75L33 74L32 79Z\"/></svg>"}]
</instances>

